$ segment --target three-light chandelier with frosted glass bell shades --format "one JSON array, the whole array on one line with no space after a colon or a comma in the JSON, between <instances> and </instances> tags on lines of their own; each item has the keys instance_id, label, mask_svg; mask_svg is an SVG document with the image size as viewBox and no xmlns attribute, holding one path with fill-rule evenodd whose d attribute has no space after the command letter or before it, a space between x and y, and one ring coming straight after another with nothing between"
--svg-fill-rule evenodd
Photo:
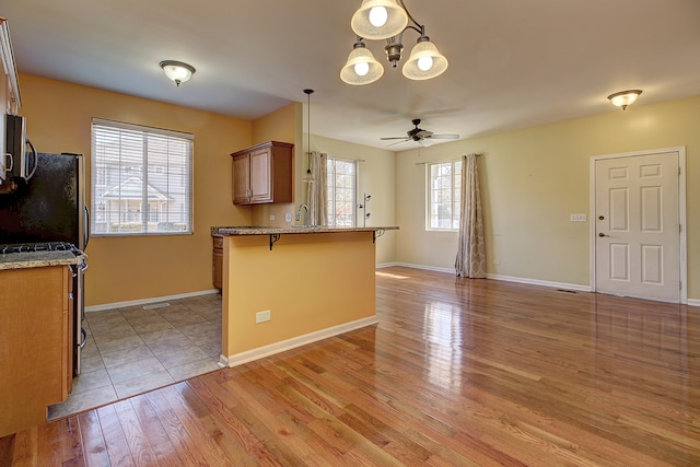
<instances>
[{"instance_id":1,"label":"three-light chandelier with frosted glass bell shades","mask_svg":"<svg viewBox=\"0 0 700 467\"><path fill-rule=\"evenodd\" d=\"M409 24L409 20L412 24ZM430 80L447 69L447 59L430 42L430 37L425 35L425 26L411 16L404 0L398 0L398 3L396 0L362 0L350 25L357 34L357 40L346 66L340 70L340 79L348 84L370 84L384 74L384 67L376 61L363 40L386 39L384 51L392 68L396 68L401 60L404 33L407 30L413 30L420 36L401 70L406 78Z\"/></svg>"}]
</instances>

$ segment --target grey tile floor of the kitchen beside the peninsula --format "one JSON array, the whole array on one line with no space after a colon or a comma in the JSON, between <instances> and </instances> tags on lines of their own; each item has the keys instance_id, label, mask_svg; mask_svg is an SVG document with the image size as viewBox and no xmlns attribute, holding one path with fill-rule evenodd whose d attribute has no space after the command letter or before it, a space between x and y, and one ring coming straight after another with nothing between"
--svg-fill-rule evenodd
<instances>
[{"instance_id":1,"label":"grey tile floor of the kitchen beside the peninsula","mask_svg":"<svg viewBox=\"0 0 700 467\"><path fill-rule=\"evenodd\" d=\"M221 294L85 313L83 327L82 372L49 420L219 369Z\"/></svg>"}]
</instances>

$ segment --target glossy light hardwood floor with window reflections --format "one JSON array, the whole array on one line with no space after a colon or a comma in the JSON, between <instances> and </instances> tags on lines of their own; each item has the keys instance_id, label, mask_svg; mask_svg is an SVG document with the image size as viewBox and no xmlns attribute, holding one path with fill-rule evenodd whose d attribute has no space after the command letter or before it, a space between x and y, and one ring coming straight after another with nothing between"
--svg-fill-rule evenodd
<instances>
[{"instance_id":1,"label":"glossy light hardwood floor with window reflections","mask_svg":"<svg viewBox=\"0 0 700 467\"><path fill-rule=\"evenodd\" d=\"M380 324L0 440L0 465L700 465L700 308L408 268Z\"/></svg>"}]
</instances>

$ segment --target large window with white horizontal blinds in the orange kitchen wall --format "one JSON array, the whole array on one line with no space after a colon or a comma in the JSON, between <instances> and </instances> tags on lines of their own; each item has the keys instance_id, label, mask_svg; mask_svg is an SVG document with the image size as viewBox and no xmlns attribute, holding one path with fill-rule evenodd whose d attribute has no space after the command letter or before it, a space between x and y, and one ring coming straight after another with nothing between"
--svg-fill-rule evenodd
<instances>
[{"instance_id":1,"label":"large window with white horizontal blinds in the orange kitchen wall","mask_svg":"<svg viewBox=\"0 0 700 467\"><path fill-rule=\"evenodd\" d=\"M93 118L92 235L192 233L192 140Z\"/></svg>"}]
</instances>

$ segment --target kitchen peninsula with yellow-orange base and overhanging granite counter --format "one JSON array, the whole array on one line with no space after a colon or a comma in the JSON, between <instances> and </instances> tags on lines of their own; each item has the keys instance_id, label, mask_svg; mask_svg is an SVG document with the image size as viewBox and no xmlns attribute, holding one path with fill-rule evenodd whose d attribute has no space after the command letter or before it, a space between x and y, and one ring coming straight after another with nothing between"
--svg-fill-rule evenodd
<instances>
[{"instance_id":1,"label":"kitchen peninsula with yellow-orange base and overhanging granite counter","mask_svg":"<svg viewBox=\"0 0 700 467\"><path fill-rule=\"evenodd\" d=\"M386 227L212 227L223 236L221 365L376 319L375 242Z\"/></svg>"}]
</instances>

